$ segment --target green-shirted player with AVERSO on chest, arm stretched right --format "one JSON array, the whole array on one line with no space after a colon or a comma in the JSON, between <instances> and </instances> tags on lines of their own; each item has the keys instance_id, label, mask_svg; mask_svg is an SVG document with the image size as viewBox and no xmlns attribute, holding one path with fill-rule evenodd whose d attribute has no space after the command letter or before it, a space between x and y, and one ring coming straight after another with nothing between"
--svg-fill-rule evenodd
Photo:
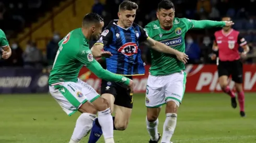
<instances>
[{"instance_id":1,"label":"green-shirted player with AVERSO on chest, arm stretched right","mask_svg":"<svg viewBox=\"0 0 256 143\"><path fill-rule=\"evenodd\" d=\"M181 52L185 52L184 37L188 30L228 27L234 24L231 21L196 21L187 18L174 18L174 5L168 0L158 4L157 18L158 20L148 23L145 27L149 37ZM149 142L160 140L160 134L157 133L157 118L160 107L166 103L166 120L161 142L169 143L176 127L177 110L184 95L185 66L176 57L159 53L154 49L151 49L151 55L152 65L149 69L145 101Z\"/></svg>"}]
</instances>

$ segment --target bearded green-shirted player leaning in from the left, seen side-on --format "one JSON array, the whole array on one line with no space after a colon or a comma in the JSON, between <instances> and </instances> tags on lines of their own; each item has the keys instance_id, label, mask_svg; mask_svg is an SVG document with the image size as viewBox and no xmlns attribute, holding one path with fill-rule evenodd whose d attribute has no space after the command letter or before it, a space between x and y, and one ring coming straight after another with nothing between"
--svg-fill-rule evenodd
<instances>
[{"instance_id":1,"label":"bearded green-shirted player leaning in from the left, seen side-on","mask_svg":"<svg viewBox=\"0 0 256 143\"><path fill-rule=\"evenodd\" d=\"M77 78L82 66L86 66L101 79L120 82L132 88L132 80L104 70L91 54L89 40L99 38L103 25L103 19L99 15L87 14L83 19L82 28L69 32L60 41L50 72L49 90L53 98L68 115L76 111L82 112L77 119L70 143L79 142L89 133L97 111L105 142L114 142L113 119L108 101L101 98L90 85ZM111 54L101 53L101 56L106 55Z\"/></svg>"}]
</instances>

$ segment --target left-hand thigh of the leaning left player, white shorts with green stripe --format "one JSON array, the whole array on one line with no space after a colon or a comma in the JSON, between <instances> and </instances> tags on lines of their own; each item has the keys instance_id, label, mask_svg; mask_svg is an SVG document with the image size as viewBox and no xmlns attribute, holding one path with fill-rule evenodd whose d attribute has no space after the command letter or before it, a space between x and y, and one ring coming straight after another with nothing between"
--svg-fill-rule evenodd
<instances>
[{"instance_id":1,"label":"left-hand thigh of the leaning left player, white shorts with green stripe","mask_svg":"<svg viewBox=\"0 0 256 143\"><path fill-rule=\"evenodd\" d=\"M53 98L69 116L78 111L88 101L82 91L75 88L75 84L73 82L64 82L60 85L49 86Z\"/></svg>"}]
</instances>

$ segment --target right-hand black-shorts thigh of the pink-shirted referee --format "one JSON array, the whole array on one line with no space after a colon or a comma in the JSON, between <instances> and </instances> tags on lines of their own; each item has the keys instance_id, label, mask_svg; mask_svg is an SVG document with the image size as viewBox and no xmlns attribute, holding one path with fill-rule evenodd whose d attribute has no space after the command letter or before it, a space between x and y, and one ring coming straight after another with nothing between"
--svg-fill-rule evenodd
<instances>
[{"instance_id":1,"label":"right-hand black-shorts thigh of the pink-shirted referee","mask_svg":"<svg viewBox=\"0 0 256 143\"><path fill-rule=\"evenodd\" d=\"M236 60L233 62L231 69L232 81L237 84L242 84L243 82L243 67L242 62L240 60Z\"/></svg>"}]
</instances>

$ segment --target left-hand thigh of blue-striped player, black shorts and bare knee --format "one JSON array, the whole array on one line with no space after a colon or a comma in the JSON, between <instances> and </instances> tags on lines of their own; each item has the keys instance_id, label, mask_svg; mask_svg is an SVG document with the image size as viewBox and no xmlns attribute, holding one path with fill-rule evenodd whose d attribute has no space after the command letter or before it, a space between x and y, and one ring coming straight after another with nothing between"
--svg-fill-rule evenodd
<instances>
[{"instance_id":1,"label":"left-hand thigh of blue-striped player, black shorts and bare knee","mask_svg":"<svg viewBox=\"0 0 256 143\"><path fill-rule=\"evenodd\" d=\"M114 110L114 101L117 96L117 87L114 82L101 81L101 97L108 100L111 112Z\"/></svg>"}]
</instances>

